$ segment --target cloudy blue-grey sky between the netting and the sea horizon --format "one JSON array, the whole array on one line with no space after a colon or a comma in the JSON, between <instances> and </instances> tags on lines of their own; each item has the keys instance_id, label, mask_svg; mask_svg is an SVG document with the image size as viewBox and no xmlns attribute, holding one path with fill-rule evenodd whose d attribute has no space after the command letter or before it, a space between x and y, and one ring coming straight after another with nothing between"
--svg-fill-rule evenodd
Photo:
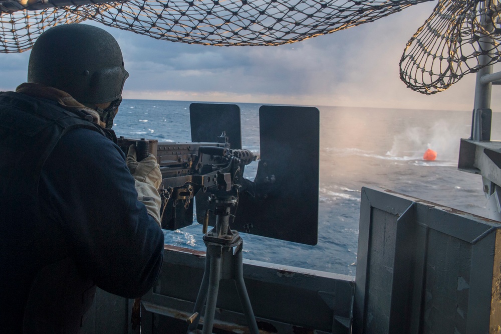
<instances>
[{"instance_id":1,"label":"cloudy blue-grey sky between the netting and the sea horizon","mask_svg":"<svg viewBox=\"0 0 501 334\"><path fill-rule=\"evenodd\" d=\"M130 78L124 98L471 110L475 75L426 96L406 88L398 62L435 2L326 36L278 47L159 41L107 28ZM26 81L29 52L0 54L1 90ZM492 106L498 104L494 87Z\"/></svg>"}]
</instances>

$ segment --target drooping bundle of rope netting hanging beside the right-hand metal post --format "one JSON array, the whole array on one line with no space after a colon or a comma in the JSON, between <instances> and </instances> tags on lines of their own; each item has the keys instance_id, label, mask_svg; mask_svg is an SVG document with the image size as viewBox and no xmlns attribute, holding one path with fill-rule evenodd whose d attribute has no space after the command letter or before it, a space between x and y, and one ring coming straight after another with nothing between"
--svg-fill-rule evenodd
<instances>
[{"instance_id":1,"label":"drooping bundle of rope netting hanging beside the right-hand metal post","mask_svg":"<svg viewBox=\"0 0 501 334\"><path fill-rule=\"evenodd\" d=\"M409 40L400 78L412 90L435 94L468 73L501 60L497 1L440 0Z\"/></svg>"}]
</instances>

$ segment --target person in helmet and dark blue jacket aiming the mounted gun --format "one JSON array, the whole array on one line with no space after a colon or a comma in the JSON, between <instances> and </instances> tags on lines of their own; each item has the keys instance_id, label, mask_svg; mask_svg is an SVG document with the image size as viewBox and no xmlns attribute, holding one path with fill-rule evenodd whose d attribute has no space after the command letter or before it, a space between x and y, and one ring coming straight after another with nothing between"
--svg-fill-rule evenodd
<instances>
[{"instance_id":1,"label":"person in helmet and dark blue jacket aiming the mounted gun","mask_svg":"<svg viewBox=\"0 0 501 334\"><path fill-rule=\"evenodd\" d=\"M0 332L73 333L96 286L135 298L162 264L161 174L110 129L125 80L106 31L61 25L0 93Z\"/></svg>"}]
</instances>

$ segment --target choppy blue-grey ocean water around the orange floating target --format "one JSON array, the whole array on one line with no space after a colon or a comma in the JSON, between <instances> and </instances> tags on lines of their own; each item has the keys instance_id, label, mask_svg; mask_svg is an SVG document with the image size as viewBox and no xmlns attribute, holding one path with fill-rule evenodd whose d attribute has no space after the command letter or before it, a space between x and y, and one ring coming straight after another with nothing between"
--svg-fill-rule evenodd
<instances>
[{"instance_id":1,"label":"choppy blue-grey ocean water around the orange floating target","mask_svg":"<svg viewBox=\"0 0 501 334\"><path fill-rule=\"evenodd\" d=\"M189 142L186 101L124 100L115 119L117 135ZM241 109L242 146L259 152L260 104ZM459 172L459 139L470 135L469 111L425 111L317 106L320 110L318 245L307 246L242 234L247 259L355 275L360 195L382 187L454 209L487 216L482 181ZM500 139L501 114L493 115L492 139ZM427 148L435 161L422 159ZM257 162L246 167L253 180ZM168 232L166 243L205 250L194 223Z\"/></svg>"}]
</instances>

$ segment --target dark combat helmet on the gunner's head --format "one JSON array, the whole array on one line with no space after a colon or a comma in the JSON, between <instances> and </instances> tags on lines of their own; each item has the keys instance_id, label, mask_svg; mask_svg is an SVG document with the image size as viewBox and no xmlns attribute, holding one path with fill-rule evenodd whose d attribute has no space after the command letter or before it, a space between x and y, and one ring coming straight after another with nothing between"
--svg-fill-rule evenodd
<instances>
[{"instance_id":1,"label":"dark combat helmet on the gunner's head","mask_svg":"<svg viewBox=\"0 0 501 334\"><path fill-rule=\"evenodd\" d=\"M61 89L83 104L121 100L128 76L115 38L84 24L45 31L35 42L28 65L28 82Z\"/></svg>"}]
</instances>

